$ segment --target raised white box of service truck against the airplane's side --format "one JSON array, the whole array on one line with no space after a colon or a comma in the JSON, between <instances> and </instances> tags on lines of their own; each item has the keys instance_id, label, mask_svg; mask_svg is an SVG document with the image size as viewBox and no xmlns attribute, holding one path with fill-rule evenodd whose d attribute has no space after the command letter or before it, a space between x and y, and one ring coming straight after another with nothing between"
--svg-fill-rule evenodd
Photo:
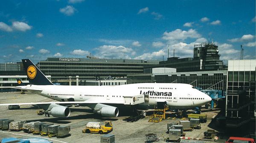
<instances>
[{"instance_id":1,"label":"raised white box of service truck against the airplane's side","mask_svg":"<svg viewBox=\"0 0 256 143\"><path fill-rule=\"evenodd\" d=\"M145 95L124 96L125 105L136 105L145 103Z\"/></svg>"}]
</instances>

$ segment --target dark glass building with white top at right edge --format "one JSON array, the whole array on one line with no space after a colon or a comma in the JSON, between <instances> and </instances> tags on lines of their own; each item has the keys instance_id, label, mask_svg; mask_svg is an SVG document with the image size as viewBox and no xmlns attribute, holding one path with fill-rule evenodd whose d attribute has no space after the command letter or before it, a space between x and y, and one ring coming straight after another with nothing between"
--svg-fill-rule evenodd
<instances>
[{"instance_id":1,"label":"dark glass building with white top at right edge","mask_svg":"<svg viewBox=\"0 0 256 143\"><path fill-rule=\"evenodd\" d=\"M226 96L226 127L239 136L255 137L256 60L230 60Z\"/></svg>"}]
</instances>

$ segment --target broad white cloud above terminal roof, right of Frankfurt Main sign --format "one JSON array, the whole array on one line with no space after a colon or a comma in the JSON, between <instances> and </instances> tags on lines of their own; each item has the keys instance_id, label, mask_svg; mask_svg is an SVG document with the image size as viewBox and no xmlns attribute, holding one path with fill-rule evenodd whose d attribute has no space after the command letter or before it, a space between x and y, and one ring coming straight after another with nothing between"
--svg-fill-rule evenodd
<instances>
[{"instance_id":1,"label":"broad white cloud above terminal roof, right of Frankfurt Main sign","mask_svg":"<svg viewBox=\"0 0 256 143\"><path fill-rule=\"evenodd\" d=\"M114 45L103 45L96 48L97 55L100 58L106 59L131 59L136 52L132 48L126 48L124 46L114 46Z\"/></svg>"}]
</instances>

